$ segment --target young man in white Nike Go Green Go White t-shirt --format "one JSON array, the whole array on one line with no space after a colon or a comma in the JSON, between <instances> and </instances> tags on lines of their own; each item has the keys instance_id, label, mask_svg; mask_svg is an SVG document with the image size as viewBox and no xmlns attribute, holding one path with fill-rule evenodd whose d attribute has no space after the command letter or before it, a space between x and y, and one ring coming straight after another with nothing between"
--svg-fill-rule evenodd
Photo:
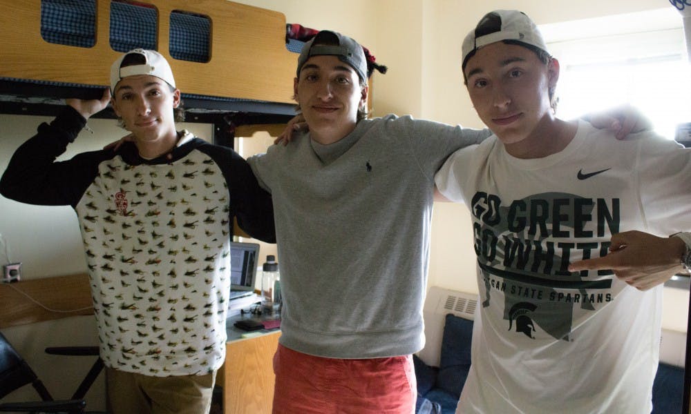
<instances>
[{"instance_id":1,"label":"young man in white Nike Go Green Go White t-shirt","mask_svg":"<svg viewBox=\"0 0 691 414\"><path fill-rule=\"evenodd\" d=\"M644 276L639 290L569 263L606 255L623 230L688 230L691 152L558 119L559 63L521 12L486 14L462 50L495 135L435 177L471 210L482 304L457 412L650 413L666 279Z\"/></svg>"}]
</instances>

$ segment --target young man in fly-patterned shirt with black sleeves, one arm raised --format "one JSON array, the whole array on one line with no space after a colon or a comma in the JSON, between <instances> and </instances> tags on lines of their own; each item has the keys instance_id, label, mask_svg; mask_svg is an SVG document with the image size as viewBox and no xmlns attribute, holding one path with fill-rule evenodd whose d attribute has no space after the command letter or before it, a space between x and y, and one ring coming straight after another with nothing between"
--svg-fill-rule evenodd
<instances>
[{"instance_id":1,"label":"young man in fly-patterned shirt with black sleeves, one arm raised","mask_svg":"<svg viewBox=\"0 0 691 414\"><path fill-rule=\"evenodd\" d=\"M271 197L236 152L176 130L180 90L158 52L117 59L111 92L68 99L17 149L0 193L79 217L109 412L208 412L225 359L229 224L274 242ZM108 101L134 141L56 162Z\"/></svg>"}]
</instances>

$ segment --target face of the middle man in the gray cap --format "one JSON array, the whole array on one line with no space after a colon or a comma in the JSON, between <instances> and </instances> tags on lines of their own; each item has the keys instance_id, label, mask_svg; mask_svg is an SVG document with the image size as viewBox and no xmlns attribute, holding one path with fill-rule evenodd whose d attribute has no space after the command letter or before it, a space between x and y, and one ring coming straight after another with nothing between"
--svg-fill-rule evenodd
<instances>
[{"instance_id":1,"label":"face of the middle man in the gray cap","mask_svg":"<svg viewBox=\"0 0 691 414\"><path fill-rule=\"evenodd\" d=\"M350 134L367 100L367 86L361 86L357 73L332 55L310 57L294 81L294 92L312 139L321 144Z\"/></svg>"}]
</instances>

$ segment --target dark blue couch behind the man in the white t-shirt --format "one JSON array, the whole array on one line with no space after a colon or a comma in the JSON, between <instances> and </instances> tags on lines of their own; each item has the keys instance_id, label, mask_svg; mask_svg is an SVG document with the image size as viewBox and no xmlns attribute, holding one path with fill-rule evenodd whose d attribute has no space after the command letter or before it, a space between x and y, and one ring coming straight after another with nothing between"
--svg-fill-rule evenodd
<instances>
[{"instance_id":1,"label":"dark blue couch behind the man in the white t-shirt","mask_svg":"<svg viewBox=\"0 0 691 414\"><path fill-rule=\"evenodd\" d=\"M428 366L417 355L417 413L453 414L471 367L473 321L446 315L439 366ZM684 370L661 363L653 384L653 414L681 413Z\"/></svg>"}]
</instances>

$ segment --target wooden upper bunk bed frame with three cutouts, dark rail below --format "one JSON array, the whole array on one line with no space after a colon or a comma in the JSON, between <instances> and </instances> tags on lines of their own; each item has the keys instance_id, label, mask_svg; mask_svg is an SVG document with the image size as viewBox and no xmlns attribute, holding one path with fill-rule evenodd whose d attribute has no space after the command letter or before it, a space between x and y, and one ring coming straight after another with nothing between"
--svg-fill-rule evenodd
<instances>
[{"instance_id":1,"label":"wooden upper bunk bed frame with three cutouts, dark rail below","mask_svg":"<svg viewBox=\"0 0 691 414\"><path fill-rule=\"evenodd\" d=\"M95 8L93 46L47 41L42 8L80 2L91 2ZM226 0L0 0L0 37L5 44L0 113L55 115L64 104L61 99L100 97L108 86L111 63L126 52L112 46L115 23L111 6L123 3L153 13L157 27L144 30L155 33L155 49L171 64L182 92L185 120L214 124L216 144L232 146L235 126L285 124L294 115L292 83L297 55L286 47L285 16ZM171 16L177 12L207 19L207 61L171 56ZM299 46L293 46L295 49ZM104 110L97 117L115 115Z\"/></svg>"}]
</instances>

